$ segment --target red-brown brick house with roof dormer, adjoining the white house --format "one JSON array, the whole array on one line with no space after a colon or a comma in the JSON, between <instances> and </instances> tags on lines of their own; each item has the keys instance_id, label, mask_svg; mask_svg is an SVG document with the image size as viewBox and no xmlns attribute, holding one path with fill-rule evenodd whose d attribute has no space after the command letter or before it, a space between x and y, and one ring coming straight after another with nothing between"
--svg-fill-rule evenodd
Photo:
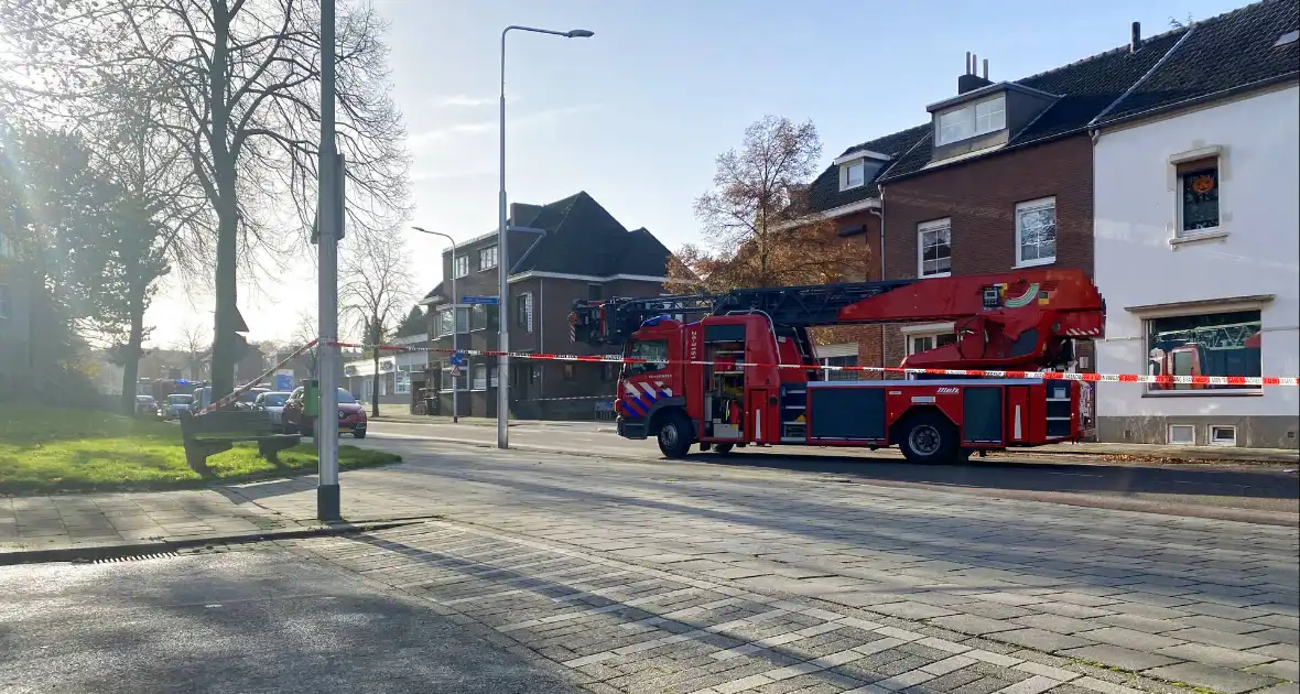
<instances>
[{"instance_id":1,"label":"red-brown brick house with roof dormer, adjoining the white house","mask_svg":"<svg viewBox=\"0 0 1300 694\"><path fill-rule=\"evenodd\" d=\"M988 79L987 60L978 74L976 58L967 53L957 94L926 107L928 123L836 159L822 178L838 182L838 195L849 192L842 190L846 185L863 181L862 192L846 198L876 200L883 227L883 234L875 233L880 277L1006 273L1043 265L1091 274L1088 125L1147 74L1182 31L1014 82ZM862 164L866 175L853 169ZM833 214L841 199L824 198L814 211ZM842 226L855 226L854 217L844 217ZM871 234L871 224L868 218L862 231ZM879 334L883 365L956 341L952 324L888 325ZM874 356L868 347L862 353L864 364ZM1093 353L1091 344L1079 346L1082 370L1095 368Z\"/></svg>"}]
</instances>

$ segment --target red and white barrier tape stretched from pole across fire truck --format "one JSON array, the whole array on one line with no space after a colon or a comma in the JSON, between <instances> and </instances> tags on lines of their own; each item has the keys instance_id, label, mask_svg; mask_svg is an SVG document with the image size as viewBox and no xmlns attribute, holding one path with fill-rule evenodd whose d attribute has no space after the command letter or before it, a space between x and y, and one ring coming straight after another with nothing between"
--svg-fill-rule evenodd
<instances>
[{"instance_id":1,"label":"red and white barrier tape stretched from pole across fire truck","mask_svg":"<svg viewBox=\"0 0 1300 694\"><path fill-rule=\"evenodd\" d=\"M368 344L352 344L339 342L338 347L356 347L368 350ZM693 364L697 366L767 366L777 369L803 369L827 372L864 372L864 373L896 373L896 374L927 374L927 376L982 376L989 378L1043 378L1048 381L1084 381L1089 383L1158 383L1193 385L1193 386L1300 386L1300 378L1287 376L1147 376L1136 373L1069 373L1069 372L1013 372L1013 370L982 370L982 369L913 369L904 366L826 366L822 364L755 364L750 361L689 361L689 360L658 360L641 357L624 357L619 355L552 355L532 352L497 352L490 350L450 350L439 347L407 347L398 344L381 344L381 352L433 352L433 353L462 353L465 356L508 356L510 359L532 359L540 361L592 361L612 364Z\"/></svg>"}]
</instances>

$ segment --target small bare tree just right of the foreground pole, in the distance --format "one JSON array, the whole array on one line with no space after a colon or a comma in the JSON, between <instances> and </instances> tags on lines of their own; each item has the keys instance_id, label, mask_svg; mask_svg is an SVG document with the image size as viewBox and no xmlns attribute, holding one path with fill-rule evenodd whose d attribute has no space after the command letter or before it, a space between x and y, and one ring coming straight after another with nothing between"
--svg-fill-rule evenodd
<instances>
[{"instance_id":1,"label":"small bare tree just right of the foreground pole, in the distance","mask_svg":"<svg viewBox=\"0 0 1300 694\"><path fill-rule=\"evenodd\" d=\"M403 237L391 231L387 238L372 237L365 243L352 243L343 257L344 283L339 287L339 305L352 317L374 361L373 416L380 416L380 346L396 330L411 303L415 281L407 268Z\"/></svg>"}]
</instances>

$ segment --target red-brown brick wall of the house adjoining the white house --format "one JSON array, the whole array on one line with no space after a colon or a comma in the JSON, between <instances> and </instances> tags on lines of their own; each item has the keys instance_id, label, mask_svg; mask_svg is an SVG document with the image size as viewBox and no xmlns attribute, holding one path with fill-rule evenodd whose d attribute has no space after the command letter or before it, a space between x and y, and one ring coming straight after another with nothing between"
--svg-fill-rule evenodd
<instances>
[{"instance_id":1,"label":"red-brown brick wall of the house adjoining the white house","mask_svg":"<svg viewBox=\"0 0 1300 694\"><path fill-rule=\"evenodd\" d=\"M1056 196L1056 268L1093 272L1092 142L1087 135L1014 149L884 186L885 278L916 277L916 225L952 220L953 274L1015 269L1015 205ZM885 363L906 355L900 326L885 326ZM1088 366L1095 366L1091 351Z\"/></svg>"}]
</instances>

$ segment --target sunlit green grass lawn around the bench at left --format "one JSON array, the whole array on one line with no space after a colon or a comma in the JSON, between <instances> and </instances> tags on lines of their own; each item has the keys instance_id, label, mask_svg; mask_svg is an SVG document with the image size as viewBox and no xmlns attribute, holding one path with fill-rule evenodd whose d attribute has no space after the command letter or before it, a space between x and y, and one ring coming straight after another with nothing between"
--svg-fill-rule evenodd
<instances>
[{"instance_id":1,"label":"sunlit green grass lawn around the bench at left","mask_svg":"<svg viewBox=\"0 0 1300 694\"><path fill-rule=\"evenodd\" d=\"M398 463L400 456L339 446L339 468ZM208 459L216 482L243 482L316 472L313 443L280 454L280 463L257 455L256 444ZM58 491L124 491L200 487L185 463L181 428L174 422L108 412L0 404L0 495Z\"/></svg>"}]
</instances>

